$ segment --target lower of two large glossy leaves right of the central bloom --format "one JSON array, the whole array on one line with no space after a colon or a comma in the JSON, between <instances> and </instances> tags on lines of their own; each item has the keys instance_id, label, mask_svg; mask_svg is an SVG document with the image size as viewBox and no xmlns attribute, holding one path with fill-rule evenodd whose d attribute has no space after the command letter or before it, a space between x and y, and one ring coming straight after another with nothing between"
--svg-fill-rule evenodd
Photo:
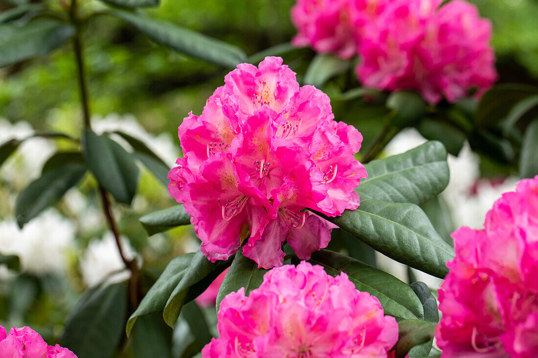
<instances>
[{"instance_id":1,"label":"lower of two large glossy leaves right of the central bloom","mask_svg":"<svg viewBox=\"0 0 538 358\"><path fill-rule=\"evenodd\" d=\"M443 278L454 249L441 239L419 206L360 198L356 210L325 217L391 259Z\"/></svg>"}]
</instances>

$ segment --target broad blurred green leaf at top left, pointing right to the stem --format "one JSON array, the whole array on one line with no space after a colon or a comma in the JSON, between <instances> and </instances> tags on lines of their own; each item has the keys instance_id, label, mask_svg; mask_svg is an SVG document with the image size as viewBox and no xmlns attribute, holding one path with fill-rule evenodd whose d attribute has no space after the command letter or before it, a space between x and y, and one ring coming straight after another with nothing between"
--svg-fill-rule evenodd
<instances>
[{"instance_id":1,"label":"broad blurred green leaf at top left, pointing right to the stem","mask_svg":"<svg viewBox=\"0 0 538 358\"><path fill-rule=\"evenodd\" d=\"M38 19L24 25L0 25L0 67L34 56L45 55L75 33L72 25L51 19Z\"/></svg>"}]
</instances>

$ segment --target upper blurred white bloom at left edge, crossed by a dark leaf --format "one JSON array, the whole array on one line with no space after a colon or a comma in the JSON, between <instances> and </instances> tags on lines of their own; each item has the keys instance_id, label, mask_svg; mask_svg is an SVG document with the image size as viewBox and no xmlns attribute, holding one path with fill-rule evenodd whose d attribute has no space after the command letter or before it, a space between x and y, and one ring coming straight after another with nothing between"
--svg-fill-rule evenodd
<instances>
[{"instance_id":1,"label":"upper blurred white bloom at left edge, crossed by a dark leaf","mask_svg":"<svg viewBox=\"0 0 538 358\"><path fill-rule=\"evenodd\" d=\"M24 121L11 124L0 119L0 144L10 139L24 139L32 135L32 126ZM37 178L45 161L54 153L55 146L48 139L30 138L17 149L16 154L6 160L0 167L0 177L22 189L31 180Z\"/></svg>"}]
</instances>

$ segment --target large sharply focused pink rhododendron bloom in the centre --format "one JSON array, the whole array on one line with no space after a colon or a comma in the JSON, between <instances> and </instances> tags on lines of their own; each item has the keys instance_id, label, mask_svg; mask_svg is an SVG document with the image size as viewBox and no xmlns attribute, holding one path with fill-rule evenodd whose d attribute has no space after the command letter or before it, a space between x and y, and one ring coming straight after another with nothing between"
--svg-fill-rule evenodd
<instances>
[{"instance_id":1,"label":"large sharply focused pink rhododendron bloom in the centre","mask_svg":"<svg viewBox=\"0 0 538 358\"><path fill-rule=\"evenodd\" d=\"M337 216L356 209L366 177L355 160L362 135L334 121L329 97L299 87L282 59L242 63L225 76L201 116L179 127L184 157L168 178L185 205L201 250L225 260L243 254L259 267L281 266L287 239L300 259L326 247L334 227L306 211Z\"/></svg>"}]
</instances>

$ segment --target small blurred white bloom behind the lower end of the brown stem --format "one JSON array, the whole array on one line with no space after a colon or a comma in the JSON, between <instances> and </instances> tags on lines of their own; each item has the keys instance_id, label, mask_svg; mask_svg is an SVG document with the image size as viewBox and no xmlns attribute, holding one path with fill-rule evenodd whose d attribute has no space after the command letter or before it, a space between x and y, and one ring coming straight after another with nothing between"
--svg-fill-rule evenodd
<instances>
[{"instance_id":1,"label":"small blurred white bloom behind the lower end of the brown stem","mask_svg":"<svg viewBox=\"0 0 538 358\"><path fill-rule=\"evenodd\" d=\"M127 238L122 236L121 244L126 259L132 260L137 256ZM88 287L93 287L105 279L109 283L115 283L131 277L130 271L122 261L122 256L119 255L116 240L111 232L105 233L102 239L90 241L80 260L80 271L82 280Z\"/></svg>"}]
</instances>

